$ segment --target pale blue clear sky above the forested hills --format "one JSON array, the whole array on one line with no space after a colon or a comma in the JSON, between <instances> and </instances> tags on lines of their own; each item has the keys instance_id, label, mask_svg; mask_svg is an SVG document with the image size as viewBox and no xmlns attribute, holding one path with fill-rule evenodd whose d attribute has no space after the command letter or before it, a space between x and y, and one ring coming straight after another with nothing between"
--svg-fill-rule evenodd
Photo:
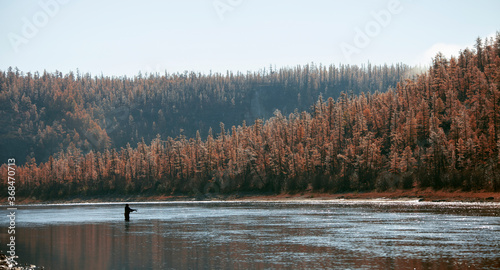
<instances>
[{"instance_id":1,"label":"pale blue clear sky above the forested hills","mask_svg":"<svg viewBox=\"0 0 500 270\"><path fill-rule=\"evenodd\" d=\"M0 70L135 76L429 65L500 31L500 1L0 1Z\"/></svg>"}]
</instances>

